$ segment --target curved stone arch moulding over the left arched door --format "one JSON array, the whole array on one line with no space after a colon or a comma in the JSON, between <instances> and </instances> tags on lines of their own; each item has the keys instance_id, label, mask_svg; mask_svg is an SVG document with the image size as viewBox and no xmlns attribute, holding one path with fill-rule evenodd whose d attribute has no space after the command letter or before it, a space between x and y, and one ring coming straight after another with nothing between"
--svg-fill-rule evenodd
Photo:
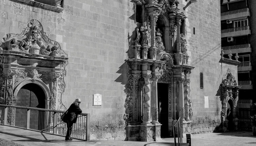
<instances>
[{"instance_id":1,"label":"curved stone arch moulding over the left arched door","mask_svg":"<svg viewBox=\"0 0 256 146\"><path fill-rule=\"evenodd\" d=\"M49 97L51 96L51 92L50 92L49 88L43 81L38 80L38 79L26 79L24 81L21 81L18 85L16 85L16 87L14 87L14 90L13 90L14 97L17 97L17 94L18 94L18 91L20 90L20 88L22 88L24 85L29 84L29 83L33 83L33 84L36 84L39 87L41 87L45 94L45 100L49 99ZM48 106L46 106L46 107L48 107Z\"/></svg>"}]
</instances>

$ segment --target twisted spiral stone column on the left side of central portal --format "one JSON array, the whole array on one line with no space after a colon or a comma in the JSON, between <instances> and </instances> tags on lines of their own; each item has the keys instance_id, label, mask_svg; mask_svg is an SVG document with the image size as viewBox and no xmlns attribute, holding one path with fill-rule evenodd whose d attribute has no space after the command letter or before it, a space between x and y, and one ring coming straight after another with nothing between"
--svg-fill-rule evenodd
<instances>
[{"instance_id":1,"label":"twisted spiral stone column on the left side of central portal","mask_svg":"<svg viewBox=\"0 0 256 146\"><path fill-rule=\"evenodd\" d=\"M151 91L150 91L150 81L149 79L151 78L151 74L142 74L142 77L145 80L144 83L144 101L143 101L143 122L145 124L150 123L151 121L151 113L150 113L150 106L151 106Z\"/></svg>"}]
</instances>

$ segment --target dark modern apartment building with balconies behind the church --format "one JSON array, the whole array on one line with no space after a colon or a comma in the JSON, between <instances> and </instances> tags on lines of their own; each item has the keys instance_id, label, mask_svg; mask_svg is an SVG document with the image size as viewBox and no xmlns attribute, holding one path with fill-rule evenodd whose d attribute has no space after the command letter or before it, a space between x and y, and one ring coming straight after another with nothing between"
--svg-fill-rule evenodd
<instances>
[{"instance_id":1,"label":"dark modern apartment building with balconies behind the church","mask_svg":"<svg viewBox=\"0 0 256 146\"><path fill-rule=\"evenodd\" d=\"M241 62L238 65L238 85L242 87L238 101L241 129L250 128L250 105L256 102L253 94L256 43L252 37L255 12L251 11L254 3L253 0L221 0L221 47L226 58L237 54Z\"/></svg>"}]
</instances>

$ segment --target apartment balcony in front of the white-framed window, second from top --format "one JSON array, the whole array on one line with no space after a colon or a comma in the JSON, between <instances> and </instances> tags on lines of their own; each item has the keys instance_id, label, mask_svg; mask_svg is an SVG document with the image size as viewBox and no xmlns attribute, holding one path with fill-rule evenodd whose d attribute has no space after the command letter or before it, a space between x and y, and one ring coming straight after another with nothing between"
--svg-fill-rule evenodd
<instances>
[{"instance_id":1,"label":"apartment balcony in front of the white-framed window, second from top","mask_svg":"<svg viewBox=\"0 0 256 146\"><path fill-rule=\"evenodd\" d=\"M251 34L250 26L242 26L238 28L230 28L221 30L221 37L235 37Z\"/></svg>"}]
</instances>

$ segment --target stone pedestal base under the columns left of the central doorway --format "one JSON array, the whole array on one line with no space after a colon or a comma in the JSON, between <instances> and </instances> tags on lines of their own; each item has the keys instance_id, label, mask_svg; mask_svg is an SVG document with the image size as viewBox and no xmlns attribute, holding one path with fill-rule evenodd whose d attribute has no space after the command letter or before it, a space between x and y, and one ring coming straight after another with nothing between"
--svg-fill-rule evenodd
<instances>
[{"instance_id":1,"label":"stone pedestal base under the columns left of the central doorway","mask_svg":"<svg viewBox=\"0 0 256 146\"><path fill-rule=\"evenodd\" d=\"M161 125L155 124L143 124L141 125L127 125L126 126L126 140L127 141L142 141L152 142L160 141L161 139Z\"/></svg>"}]
</instances>

